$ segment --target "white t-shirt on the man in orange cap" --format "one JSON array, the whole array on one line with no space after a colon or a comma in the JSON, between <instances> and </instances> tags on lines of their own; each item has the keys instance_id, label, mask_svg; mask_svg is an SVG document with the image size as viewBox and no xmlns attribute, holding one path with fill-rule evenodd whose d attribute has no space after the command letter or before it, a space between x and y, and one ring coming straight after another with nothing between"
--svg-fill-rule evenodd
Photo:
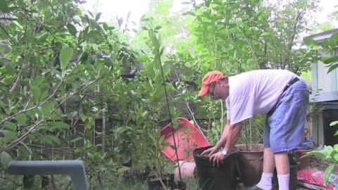
<instances>
[{"instance_id":1,"label":"white t-shirt on the man in orange cap","mask_svg":"<svg viewBox=\"0 0 338 190\"><path fill-rule=\"evenodd\" d=\"M227 119L231 124L268 113L295 77L288 70L252 70L229 77Z\"/></svg>"}]
</instances>

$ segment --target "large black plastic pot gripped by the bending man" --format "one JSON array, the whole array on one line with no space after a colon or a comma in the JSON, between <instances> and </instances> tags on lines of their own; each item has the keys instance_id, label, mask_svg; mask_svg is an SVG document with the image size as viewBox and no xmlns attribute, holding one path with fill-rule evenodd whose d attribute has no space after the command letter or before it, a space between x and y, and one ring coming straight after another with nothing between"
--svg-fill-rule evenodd
<instances>
[{"instance_id":1,"label":"large black plastic pot gripped by the bending man","mask_svg":"<svg viewBox=\"0 0 338 190\"><path fill-rule=\"evenodd\" d=\"M193 152L199 188L203 190L236 189L238 148L232 148L232 152L227 156L224 163L220 167L214 167L208 157L201 156L203 151L211 147L213 146L196 148Z\"/></svg>"}]
</instances>

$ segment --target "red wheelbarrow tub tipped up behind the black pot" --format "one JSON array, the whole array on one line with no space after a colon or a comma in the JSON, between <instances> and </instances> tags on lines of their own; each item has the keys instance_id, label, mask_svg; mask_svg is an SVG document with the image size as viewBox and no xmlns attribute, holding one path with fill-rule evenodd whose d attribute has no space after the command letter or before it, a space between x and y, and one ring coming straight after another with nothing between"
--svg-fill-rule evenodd
<instances>
[{"instance_id":1,"label":"red wheelbarrow tub tipped up behind the black pot","mask_svg":"<svg viewBox=\"0 0 338 190\"><path fill-rule=\"evenodd\" d=\"M178 160L193 160L194 156L192 152L194 149L210 146L208 139L186 118L178 118L178 123L179 126L177 129L171 127L170 123L161 129L160 134L165 136L164 142L168 142L170 146L175 146L173 138L175 137ZM172 129L174 130L175 136L173 136ZM175 161L175 150L170 146L165 147L162 153L170 160Z\"/></svg>"}]
</instances>

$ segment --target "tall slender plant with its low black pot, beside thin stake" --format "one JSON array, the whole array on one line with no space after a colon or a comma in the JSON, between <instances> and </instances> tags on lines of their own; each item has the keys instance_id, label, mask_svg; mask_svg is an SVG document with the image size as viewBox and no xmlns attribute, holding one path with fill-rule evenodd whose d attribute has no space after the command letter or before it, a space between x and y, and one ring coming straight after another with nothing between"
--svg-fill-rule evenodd
<instances>
[{"instance_id":1,"label":"tall slender plant with its low black pot, beside thin stake","mask_svg":"<svg viewBox=\"0 0 338 190\"><path fill-rule=\"evenodd\" d=\"M153 27L151 23L147 22L144 28L149 32L151 40L149 46L153 49L154 58L144 63L142 75L139 76L140 85L135 91L135 94L140 94L139 99L143 101L143 106L135 108L135 111L142 115L142 118L137 118L137 122L140 126L139 132L143 136L137 142L134 142L134 159L142 165L149 166L151 170L147 179L149 190L185 189L184 182L175 182L174 180L175 163L162 153L163 148L170 145L165 143L165 137L160 134L161 128L158 123L161 120L168 120L168 118L169 120L174 118L173 121L177 121L177 117L171 116L165 81L163 81L169 70L163 72L162 69L161 54L163 51L160 51L161 43L157 37L157 30L160 27ZM165 111L167 107L168 112ZM172 125L175 127L177 123L172 122Z\"/></svg>"}]
</instances>

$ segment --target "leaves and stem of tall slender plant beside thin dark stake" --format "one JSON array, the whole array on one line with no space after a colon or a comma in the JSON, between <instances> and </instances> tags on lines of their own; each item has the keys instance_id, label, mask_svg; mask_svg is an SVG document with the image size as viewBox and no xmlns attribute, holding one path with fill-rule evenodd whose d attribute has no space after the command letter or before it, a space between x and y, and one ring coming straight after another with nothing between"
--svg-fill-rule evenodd
<instances>
[{"instance_id":1,"label":"leaves and stem of tall slender plant beside thin dark stake","mask_svg":"<svg viewBox=\"0 0 338 190\"><path fill-rule=\"evenodd\" d=\"M165 103L166 89L169 89L167 84L165 84L164 77L167 77L170 70L165 69L166 65L162 65L161 56L163 55L163 47L161 46L161 36L158 34L160 27L154 27L151 22L146 23L146 30L149 33L149 48L152 49L154 57L150 60L149 63L144 64L144 70L141 74L146 75L146 80L141 83L139 93L142 91L147 91L147 94L143 94L144 105L146 106L146 114L149 114L150 122L145 122L144 130L146 131L146 136L142 137L143 141L141 146L138 146L139 143L135 144L137 150L142 150L137 153L137 158L142 160L145 165L149 165L158 179L164 179L165 167L168 165L168 160L163 156L162 150L165 147L168 147L168 144L163 144L165 139L159 133L159 128L157 121L160 120L161 115L158 114L158 110L162 110L167 119L177 120L175 115L171 115L173 110L165 111L165 108L170 109L170 105ZM163 69L164 68L164 69ZM163 71L163 72L162 72ZM170 91L170 90L169 90ZM169 92L168 91L168 92ZM154 167L153 167L154 166ZM173 170L173 169L172 169Z\"/></svg>"}]
</instances>

